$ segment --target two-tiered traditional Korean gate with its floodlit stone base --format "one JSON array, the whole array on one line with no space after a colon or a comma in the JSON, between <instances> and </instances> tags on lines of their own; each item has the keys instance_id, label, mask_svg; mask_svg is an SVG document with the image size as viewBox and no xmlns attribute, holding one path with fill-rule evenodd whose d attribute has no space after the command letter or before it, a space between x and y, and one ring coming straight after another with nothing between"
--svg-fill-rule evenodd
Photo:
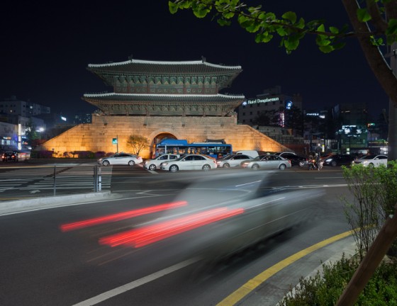
<instances>
[{"instance_id":1,"label":"two-tiered traditional Korean gate with its floodlit stone base","mask_svg":"<svg viewBox=\"0 0 397 306\"><path fill-rule=\"evenodd\" d=\"M248 125L237 125L235 108L245 96L219 94L229 87L240 66L211 64L203 60L159 62L128 60L89 64L113 92L84 94L84 101L100 113L92 123L77 125L45 142L38 149L54 150L60 156L71 151L129 152L130 135L147 137L151 156L155 142L164 137L202 142L225 139L235 150L284 151L287 148Z\"/></svg>"}]
</instances>

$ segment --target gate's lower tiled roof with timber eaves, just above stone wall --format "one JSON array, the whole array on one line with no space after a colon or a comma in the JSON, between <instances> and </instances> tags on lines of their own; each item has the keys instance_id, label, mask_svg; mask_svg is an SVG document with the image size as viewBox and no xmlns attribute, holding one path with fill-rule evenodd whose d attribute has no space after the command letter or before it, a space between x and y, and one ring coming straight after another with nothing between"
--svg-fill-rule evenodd
<instances>
[{"instance_id":1,"label":"gate's lower tiled roof with timber eaves, just above stone wall","mask_svg":"<svg viewBox=\"0 0 397 306\"><path fill-rule=\"evenodd\" d=\"M227 116L245 96L167 94L84 94L84 101L106 115Z\"/></svg>"}]
</instances>

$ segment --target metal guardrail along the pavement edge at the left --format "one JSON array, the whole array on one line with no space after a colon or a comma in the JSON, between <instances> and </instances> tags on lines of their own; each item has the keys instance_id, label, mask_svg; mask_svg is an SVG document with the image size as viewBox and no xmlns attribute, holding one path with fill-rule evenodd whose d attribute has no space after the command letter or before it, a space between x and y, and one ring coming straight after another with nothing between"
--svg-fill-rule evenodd
<instances>
[{"instance_id":1,"label":"metal guardrail along the pavement edge at the left","mask_svg":"<svg viewBox=\"0 0 397 306\"><path fill-rule=\"evenodd\" d=\"M0 167L0 201L102 191L100 165L17 165Z\"/></svg>"}]
</instances>

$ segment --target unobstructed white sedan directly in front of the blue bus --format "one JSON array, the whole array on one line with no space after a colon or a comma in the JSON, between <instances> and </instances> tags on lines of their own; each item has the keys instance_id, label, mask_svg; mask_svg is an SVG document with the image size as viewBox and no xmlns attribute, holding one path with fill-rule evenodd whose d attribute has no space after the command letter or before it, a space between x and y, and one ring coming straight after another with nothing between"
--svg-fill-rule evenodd
<instances>
[{"instance_id":1,"label":"unobstructed white sedan directly in front of the blue bus","mask_svg":"<svg viewBox=\"0 0 397 306\"><path fill-rule=\"evenodd\" d=\"M216 160L203 154L186 154L179 159L162 162L162 170L177 172L178 170L204 170L216 169Z\"/></svg>"}]
</instances>

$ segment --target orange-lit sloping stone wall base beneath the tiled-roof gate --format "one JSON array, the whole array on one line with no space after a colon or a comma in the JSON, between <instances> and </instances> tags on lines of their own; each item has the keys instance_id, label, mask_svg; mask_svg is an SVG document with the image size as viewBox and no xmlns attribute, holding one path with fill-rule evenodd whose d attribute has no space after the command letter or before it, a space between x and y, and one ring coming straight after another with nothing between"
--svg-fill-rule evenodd
<instances>
[{"instance_id":1,"label":"orange-lit sloping stone wall base beneath the tiled-roof gate","mask_svg":"<svg viewBox=\"0 0 397 306\"><path fill-rule=\"evenodd\" d=\"M152 144L155 137L162 133L189 142L225 139L225 142L233 145L234 151L290 151L249 125L237 125L235 117L167 116L93 116L92 123L77 125L35 150L53 150L58 156L73 151L116 152L117 146L112 144L112 139L117 137L118 152L131 152L127 146L130 135L145 136ZM150 149L142 151L140 155L149 158Z\"/></svg>"}]
</instances>

